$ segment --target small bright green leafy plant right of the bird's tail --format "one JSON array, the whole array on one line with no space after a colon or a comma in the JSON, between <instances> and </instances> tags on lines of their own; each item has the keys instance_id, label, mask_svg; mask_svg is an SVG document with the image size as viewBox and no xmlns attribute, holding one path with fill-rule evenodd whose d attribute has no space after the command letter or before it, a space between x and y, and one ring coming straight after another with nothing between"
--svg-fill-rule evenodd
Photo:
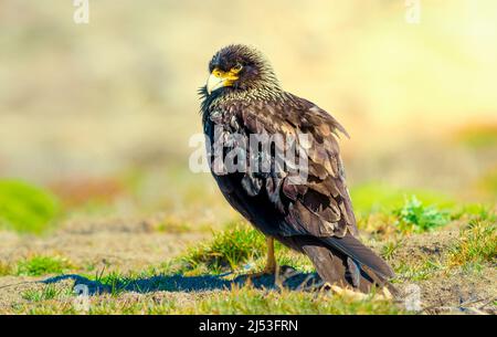
<instances>
[{"instance_id":1,"label":"small bright green leafy plant right of the bird's tail","mask_svg":"<svg viewBox=\"0 0 497 337\"><path fill-rule=\"evenodd\" d=\"M398 218L395 225L403 232L425 232L447 224L450 214L434 206L425 207L415 196L405 200L404 206L393 211Z\"/></svg>"}]
</instances>

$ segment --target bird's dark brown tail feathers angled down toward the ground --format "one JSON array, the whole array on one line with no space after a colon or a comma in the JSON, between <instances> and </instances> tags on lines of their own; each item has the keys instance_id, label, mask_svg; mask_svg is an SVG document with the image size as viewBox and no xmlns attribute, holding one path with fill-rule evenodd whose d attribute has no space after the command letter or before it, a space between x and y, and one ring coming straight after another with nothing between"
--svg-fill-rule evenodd
<instances>
[{"instance_id":1,"label":"bird's dark brown tail feathers angled down toward the ground","mask_svg":"<svg viewBox=\"0 0 497 337\"><path fill-rule=\"evenodd\" d=\"M343 238L304 240L300 249L309 256L322 281L352 286L363 293L373 287L396 289L389 282L394 277L392 268L373 251L350 234Z\"/></svg>"}]
</instances>

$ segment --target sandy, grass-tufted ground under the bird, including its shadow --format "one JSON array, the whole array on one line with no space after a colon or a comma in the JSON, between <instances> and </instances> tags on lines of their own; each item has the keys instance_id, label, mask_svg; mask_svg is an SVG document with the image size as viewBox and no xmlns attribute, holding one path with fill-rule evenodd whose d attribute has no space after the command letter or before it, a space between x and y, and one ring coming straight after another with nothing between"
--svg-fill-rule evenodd
<instances>
[{"instance_id":1,"label":"sandy, grass-tufted ground under the bird, including its shadow","mask_svg":"<svg viewBox=\"0 0 497 337\"><path fill-rule=\"evenodd\" d=\"M41 235L3 231L0 313L495 314L495 210L473 213L423 232L399 231L385 213L360 219L362 239L398 273L396 299L314 288L309 262L279 245L279 263L292 265L283 286L269 276L247 283L243 275L264 262L264 238L242 220L214 232L154 219L70 220ZM87 307L75 293L81 284ZM421 312L405 306L413 285Z\"/></svg>"}]
</instances>

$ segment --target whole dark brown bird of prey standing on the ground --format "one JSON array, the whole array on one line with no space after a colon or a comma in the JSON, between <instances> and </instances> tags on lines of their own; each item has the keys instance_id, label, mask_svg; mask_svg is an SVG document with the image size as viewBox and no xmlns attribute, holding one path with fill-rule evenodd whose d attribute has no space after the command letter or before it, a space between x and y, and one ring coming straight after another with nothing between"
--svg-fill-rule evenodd
<instances>
[{"instance_id":1,"label":"whole dark brown bird of prey standing on the ground","mask_svg":"<svg viewBox=\"0 0 497 337\"><path fill-rule=\"evenodd\" d=\"M210 170L226 201L267 242L266 265L254 275L277 273L276 240L307 255L325 284L393 291L392 268L359 239L338 144L341 135L349 137L346 129L316 104L284 91L254 46L222 48L208 71L199 95ZM290 139L283 147L296 148L304 173L278 155L282 143L254 147L254 135ZM226 168L230 156L237 158L234 168Z\"/></svg>"}]
</instances>

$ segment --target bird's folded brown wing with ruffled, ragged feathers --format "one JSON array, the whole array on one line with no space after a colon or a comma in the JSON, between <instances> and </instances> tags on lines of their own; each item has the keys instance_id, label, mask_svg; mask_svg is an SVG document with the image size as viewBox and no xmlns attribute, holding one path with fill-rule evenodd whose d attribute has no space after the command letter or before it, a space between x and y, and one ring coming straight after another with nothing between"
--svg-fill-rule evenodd
<instances>
[{"instance_id":1,"label":"bird's folded brown wing with ruffled, ragged feathers","mask_svg":"<svg viewBox=\"0 0 497 337\"><path fill-rule=\"evenodd\" d=\"M247 171L242 185L251 196L267 193L271 202L285 218L285 235L314 236L357 233L356 219L346 187L338 147L338 133L347 135L343 127L328 113L303 98L290 96L282 103L257 103L240 108L240 124L246 134L281 134L295 140L308 165L307 179L296 182L302 172L289 167L281 168L277 156L272 157L267 175ZM298 138L307 135L307 139ZM257 151L247 151L247 156ZM288 161L285 158L285 164Z\"/></svg>"}]
</instances>

